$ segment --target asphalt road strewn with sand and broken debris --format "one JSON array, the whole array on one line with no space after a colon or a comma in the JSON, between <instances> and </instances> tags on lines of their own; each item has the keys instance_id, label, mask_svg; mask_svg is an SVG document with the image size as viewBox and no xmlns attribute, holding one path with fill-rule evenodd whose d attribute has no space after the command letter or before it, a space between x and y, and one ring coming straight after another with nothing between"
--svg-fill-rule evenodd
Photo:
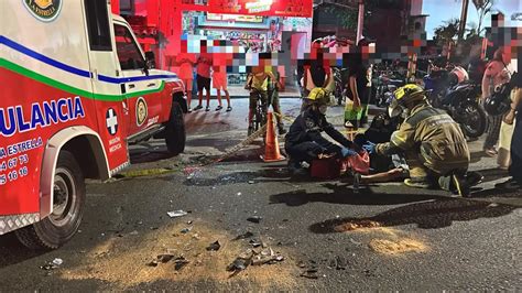
<instances>
[{"instance_id":1,"label":"asphalt road strewn with sand and broken debris","mask_svg":"<svg viewBox=\"0 0 522 293\"><path fill-rule=\"evenodd\" d=\"M400 183L355 192L349 178L291 178L285 162L259 160L261 140L186 169L246 138L247 100L232 102L230 113L186 117L185 154L167 158L152 141L132 149L127 177L89 182L80 232L63 248L30 251L0 237L0 291L522 289L521 194L493 188L505 172L482 156L480 141L470 143L471 169L486 180L472 199ZM297 113L298 100L282 102L286 115ZM134 176L139 170L167 173ZM178 209L188 214L167 216ZM248 220L255 216L259 223ZM219 250L207 250L215 241ZM252 248L283 259L227 272ZM173 259L148 265L164 253ZM55 258L63 264L41 269Z\"/></svg>"}]
</instances>

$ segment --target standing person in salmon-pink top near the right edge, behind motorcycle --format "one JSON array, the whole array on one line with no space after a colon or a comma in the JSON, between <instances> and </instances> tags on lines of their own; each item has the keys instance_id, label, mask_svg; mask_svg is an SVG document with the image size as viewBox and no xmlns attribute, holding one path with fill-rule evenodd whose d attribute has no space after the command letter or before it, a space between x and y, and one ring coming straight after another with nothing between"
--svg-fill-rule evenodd
<instances>
[{"instance_id":1,"label":"standing person in salmon-pink top near the right edge, behind motorcycle","mask_svg":"<svg viewBox=\"0 0 522 293\"><path fill-rule=\"evenodd\" d=\"M493 59L486 67L486 72L482 77L482 102L486 98L491 96L496 87L505 84L510 79L507 64L511 62L509 54L505 54L503 47L499 47L494 51ZM496 144L499 141L500 127L502 123L502 116L488 116L488 135L483 143L483 151L489 156L496 156L498 151Z\"/></svg>"}]
</instances>

